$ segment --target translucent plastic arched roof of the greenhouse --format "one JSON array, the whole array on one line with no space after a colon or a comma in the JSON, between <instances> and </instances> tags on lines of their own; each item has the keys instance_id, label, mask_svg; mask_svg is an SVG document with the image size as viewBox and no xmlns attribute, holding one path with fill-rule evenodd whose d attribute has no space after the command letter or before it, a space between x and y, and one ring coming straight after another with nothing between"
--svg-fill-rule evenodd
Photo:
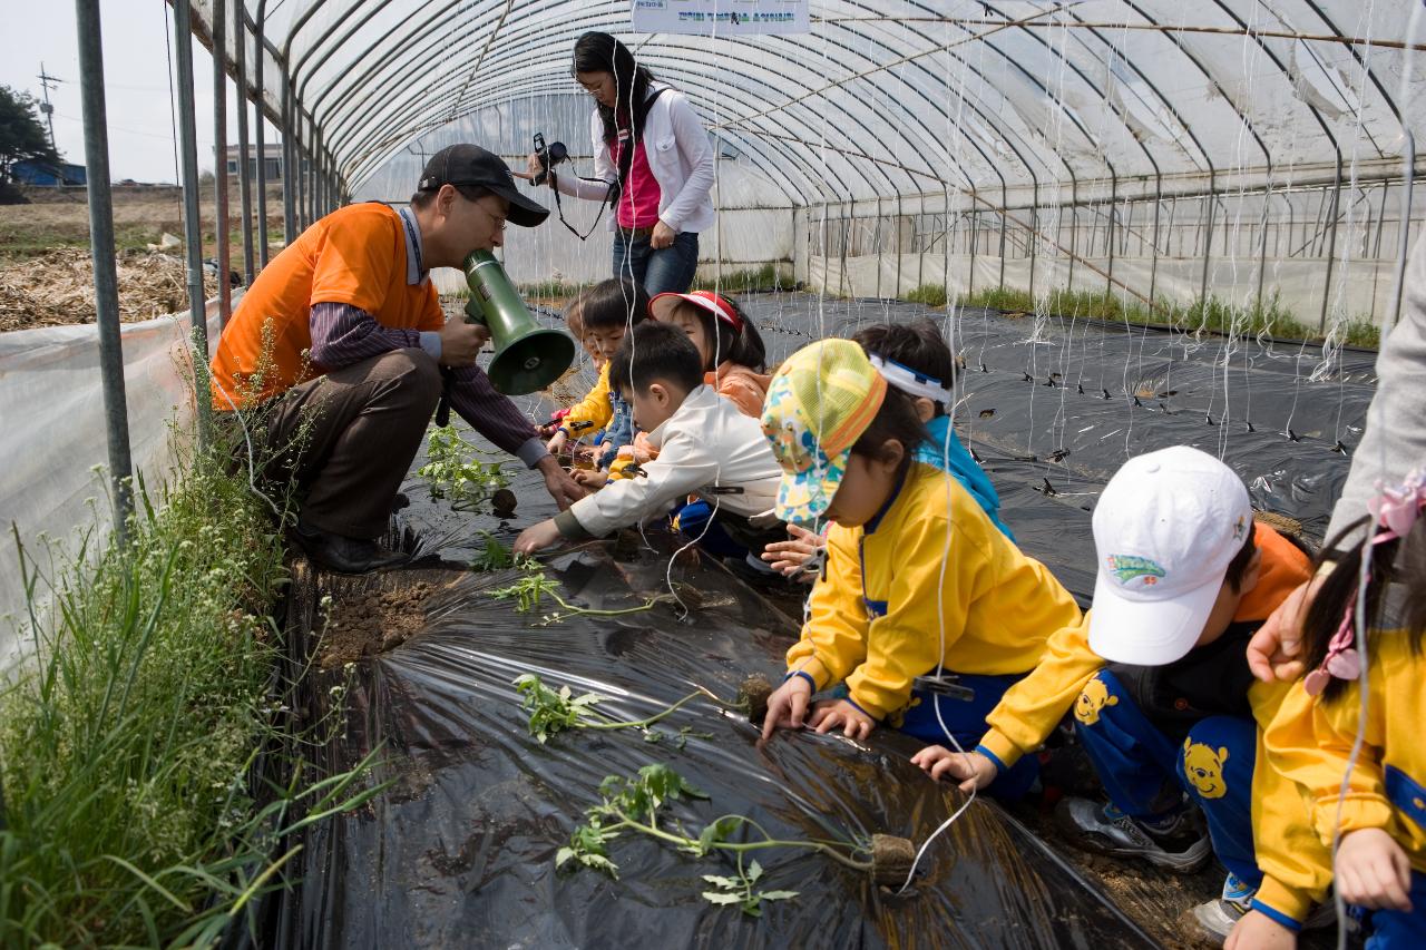
<instances>
[{"instance_id":1,"label":"translucent plastic arched roof of the greenhouse","mask_svg":"<svg viewBox=\"0 0 1426 950\"><path fill-rule=\"evenodd\" d=\"M1419 64L1402 90L1407 51L1333 41L1399 41L1406 0L814 3L809 36L739 40L632 34L620 0L519 16L493 0L265 6L267 41L354 185L472 111L578 97L568 58L590 29L632 40L797 204L829 183L857 200L938 190L927 175L987 187L1269 165L1291 180L1338 155L1399 155L1403 124L1423 127ZM207 21L211 4L195 9ZM265 60L275 108L282 68ZM963 117L1004 148L960 131ZM870 163L836 151L847 138ZM833 150L804 161L819 143Z\"/></svg>"}]
</instances>

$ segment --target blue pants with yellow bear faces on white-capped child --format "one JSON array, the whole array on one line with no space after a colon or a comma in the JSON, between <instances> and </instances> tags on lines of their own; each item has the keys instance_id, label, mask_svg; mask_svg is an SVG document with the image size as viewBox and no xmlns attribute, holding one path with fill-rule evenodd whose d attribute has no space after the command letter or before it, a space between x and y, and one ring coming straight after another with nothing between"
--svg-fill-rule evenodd
<instances>
[{"instance_id":1,"label":"blue pants with yellow bear faces on white-capped child","mask_svg":"<svg viewBox=\"0 0 1426 950\"><path fill-rule=\"evenodd\" d=\"M1188 792L1208 819L1218 860L1249 887L1262 883L1252 846L1252 770L1258 725L1208 716L1174 742L1148 720L1107 669L1094 675L1074 706L1075 729L1114 807L1132 817L1172 810Z\"/></svg>"}]
</instances>

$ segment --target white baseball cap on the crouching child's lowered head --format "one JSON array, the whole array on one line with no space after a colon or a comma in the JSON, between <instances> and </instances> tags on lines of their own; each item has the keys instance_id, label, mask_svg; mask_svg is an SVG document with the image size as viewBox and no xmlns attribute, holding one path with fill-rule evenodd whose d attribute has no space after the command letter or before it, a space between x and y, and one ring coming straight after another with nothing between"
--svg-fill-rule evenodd
<instances>
[{"instance_id":1,"label":"white baseball cap on the crouching child's lowered head","mask_svg":"<svg viewBox=\"0 0 1426 950\"><path fill-rule=\"evenodd\" d=\"M1089 649L1135 666L1181 659L1252 531L1248 488L1212 455L1175 445L1131 458L1094 509Z\"/></svg>"}]
</instances>

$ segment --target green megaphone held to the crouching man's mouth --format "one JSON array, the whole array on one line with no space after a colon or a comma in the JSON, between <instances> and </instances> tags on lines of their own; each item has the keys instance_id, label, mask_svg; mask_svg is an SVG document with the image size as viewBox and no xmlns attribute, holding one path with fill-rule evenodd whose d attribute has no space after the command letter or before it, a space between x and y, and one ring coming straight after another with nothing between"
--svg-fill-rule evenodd
<instances>
[{"instance_id":1,"label":"green megaphone held to the crouching man's mouth","mask_svg":"<svg viewBox=\"0 0 1426 950\"><path fill-rule=\"evenodd\" d=\"M573 338L535 321L493 254L469 254L465 258L465 282L471 287L466 321L483 324L495 342L495 358L485 374L496 392L536 392L559 379L575 362Z\"/></svg>"}]
</instances>

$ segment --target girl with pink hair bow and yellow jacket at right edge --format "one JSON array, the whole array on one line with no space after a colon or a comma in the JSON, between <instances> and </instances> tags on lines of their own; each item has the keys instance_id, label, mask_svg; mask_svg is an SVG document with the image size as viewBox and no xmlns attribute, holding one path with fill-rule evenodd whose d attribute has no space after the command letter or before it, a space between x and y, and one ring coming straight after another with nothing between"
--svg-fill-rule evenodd
<instances>
[{"instance_id":1,"label":"girl with pink hair bow and yellow jacket at right edge","mask_svg":"<svg viewBox=\"0 0 1426 950\"><path fill-rule=\"evenodd\" d=\"M1336 849L1338 894L1369 911L1369 950L1426 946L1423 509L1420 472L1373 504L1365 548L1338 562L1308 612L1302 646L1312 672L1293 685L1265 737L1269 762L1302 792L1303 823ZM1372 563L1359 605L1365 551ZM1292 944L1291 931L1261 914L1243 917L1229 943Z\"/></svg>"}]
</instances>

